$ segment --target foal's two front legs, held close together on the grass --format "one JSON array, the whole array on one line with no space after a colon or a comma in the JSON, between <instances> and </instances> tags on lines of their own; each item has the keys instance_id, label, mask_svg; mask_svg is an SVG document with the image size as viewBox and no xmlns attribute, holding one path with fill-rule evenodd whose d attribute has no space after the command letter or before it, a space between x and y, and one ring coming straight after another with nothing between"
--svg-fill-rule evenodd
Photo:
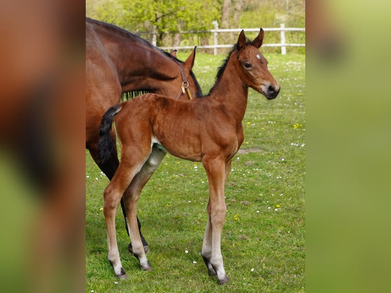
<instances>
[{"instance_id":1,"label":"foal's two front legs, held close together on the grass","mask_svg":"<svg viewBox=\"0 0 391 293\"><path fill-rule=\"evenodd\" d=\"M226 163L223 158L205 156L202 160L209 181L208 221L206 224L201 255L208 267L209 274L216 275L218 284L229 281L224 270L221 254L221 233L225 221L226 205L224 200Z\"/></svg>"}]
</instances>

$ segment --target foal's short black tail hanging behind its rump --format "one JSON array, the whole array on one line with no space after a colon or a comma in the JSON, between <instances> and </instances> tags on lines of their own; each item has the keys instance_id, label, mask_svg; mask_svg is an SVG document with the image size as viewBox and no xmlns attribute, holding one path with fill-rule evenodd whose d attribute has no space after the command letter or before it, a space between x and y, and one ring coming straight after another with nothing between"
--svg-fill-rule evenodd
<instances>
[{"instance_id":1,"label":"foal's short black tail hanging behind its rump","mask_svg":"<svg viewBox=\"0 0 391 293\"><path fill-rule=\"evenodd\" d=\"M111 125L113 123L114 116L121 110L120 105L111 107L102 116L101 126L99 127L99 143L98 143L98 161L100 163L106 162L113 151L114 145L110 137Z\"/></svg>"}]
</instances>

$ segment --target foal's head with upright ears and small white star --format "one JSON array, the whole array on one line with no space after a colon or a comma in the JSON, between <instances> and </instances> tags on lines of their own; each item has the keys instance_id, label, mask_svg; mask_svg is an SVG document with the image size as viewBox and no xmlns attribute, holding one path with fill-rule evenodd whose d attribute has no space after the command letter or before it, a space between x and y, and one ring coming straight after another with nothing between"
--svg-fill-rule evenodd
<instances>
[{"instance_id":1,"label":"foal's head with upright ears and small white star","mask_svg":"<svg viewBox=\"0 0 391 293\"><path fill-rule=\"evenodd\" d=\"M280 85L267 69L267 60L259 47L263 41L263 30L249 42L242 30L236 44L238 72L245 84L263 94L267 100L273 100L280 92Z\"/></svg>"}]
</instances>

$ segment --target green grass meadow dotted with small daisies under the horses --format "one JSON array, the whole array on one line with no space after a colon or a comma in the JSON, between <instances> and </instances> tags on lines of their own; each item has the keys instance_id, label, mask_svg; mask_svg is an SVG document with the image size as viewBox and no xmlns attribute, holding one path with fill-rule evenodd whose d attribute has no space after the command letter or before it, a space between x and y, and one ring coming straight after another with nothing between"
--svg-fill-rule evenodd
<instances>
[{"instance_id":1,"label":"green grass meadow dotted with small daisies under the horses","mask_svg":"<svg viewBox=\"0 0 391 293\"><path fill-rule=\"evenodd\" d=\"M178 54L181 60L187 56ZM197 54L193 71L204 93L225 57ZM231 282L218 286L200 255L208 202L205 170L170 155L138 202L154 271L140 271L128 253L118 211L118 248L129 279L116 279L107 261L101 210L108 180L86 152L86 292L305 291L305 55L265 57L281 92L267 101L249 91L245 142L233 158L225 192L222 253Z\"/></svg>"}]
</instances>

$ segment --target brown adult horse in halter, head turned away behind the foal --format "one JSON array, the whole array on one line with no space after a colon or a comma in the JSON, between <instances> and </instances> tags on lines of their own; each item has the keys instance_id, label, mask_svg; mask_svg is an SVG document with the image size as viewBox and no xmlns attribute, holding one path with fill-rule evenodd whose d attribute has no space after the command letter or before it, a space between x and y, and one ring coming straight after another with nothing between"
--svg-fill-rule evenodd
<instances>
[{"instance_id":1,"label":"brown adult horse in halter, head turned away behind the foal","mask_svg":"<svg viewBox=\"0 0 391 293\"><path fill-rule=\"evenodd\" d=\"M184 100L202 95L191 71L194 57L195 48L183 63L175 54L162 52L134 34L108 23L86 18L86 149L110 180L119 161L115 148L107 161L97 161L102 115L119 103L121 94L125 92L155 92ZM114 131L110 132L110 136L115 141ZM157 158L163 159L160 155ZM143 176L139 178L140 184L149 180L158 165L151 163L145 166ZM125 217L122 201L121 206ZM128 230L127 226L126 228ZM141 232L140 236L144 249L148 252L148 243ZM132 251L131 245L129 250Z\"/></svg>"}]
</instances>

